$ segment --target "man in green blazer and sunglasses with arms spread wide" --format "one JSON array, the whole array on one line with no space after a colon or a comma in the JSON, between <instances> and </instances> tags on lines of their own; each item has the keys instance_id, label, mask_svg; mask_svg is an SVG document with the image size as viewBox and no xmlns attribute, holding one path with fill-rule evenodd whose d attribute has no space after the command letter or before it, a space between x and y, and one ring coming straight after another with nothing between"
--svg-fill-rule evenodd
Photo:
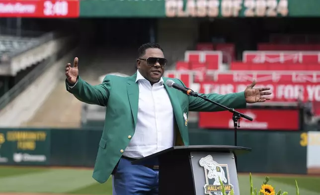
<instances>
[{"instance_id":1,"label":"man in green blazer and sunglasses with arms spread wide","mask_svg":"<svg viewBox=\"0 0 320 195\"><path fill-rule=\"evenodd\" d=\"M162 77L167 60L158 44L146 43L136 60L138 71L131 77L107 75L100 85L91 86L79 76L78 58L66 65L66 88L80 101L106 106L105 125L99 142L93 178L104 183L112 175L113 195L157 195L159 166L132 165L133 160L175 145L189 145L188 112L222 111L201 98L169 88ZM269 88L207 98L228 107L245 108L246 103L270 98Z\"/></svg>"}]
</instances>

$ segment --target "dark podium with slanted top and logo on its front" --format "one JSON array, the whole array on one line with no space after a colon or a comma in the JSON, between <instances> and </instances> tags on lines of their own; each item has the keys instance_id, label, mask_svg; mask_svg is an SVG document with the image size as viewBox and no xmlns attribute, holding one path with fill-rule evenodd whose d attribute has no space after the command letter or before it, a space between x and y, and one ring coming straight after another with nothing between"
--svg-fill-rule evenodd
<instances>
[{"instance_id":1,"label":"dark podium with slanted top and logo on its front","mask_svg":"<svg viewBox=\"0 0 320 195\"><path fill-rule=\"evenodd\" d=\"M159 165L159 195L222 195L219 178L228 195L240 195L235 155L251 151L239 146L174 146L135 165Z\"/></svg>"}]
</instances>

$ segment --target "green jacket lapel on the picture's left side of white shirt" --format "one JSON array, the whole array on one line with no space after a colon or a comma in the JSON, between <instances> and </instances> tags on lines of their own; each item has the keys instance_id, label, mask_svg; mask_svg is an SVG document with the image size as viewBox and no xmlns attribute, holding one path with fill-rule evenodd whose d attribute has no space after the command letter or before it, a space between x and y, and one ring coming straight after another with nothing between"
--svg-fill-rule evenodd
<instances>
[{"instance_id":1,"label":"green jacket lapel on the picture's left side of white shirt","mask_svg":"<svg viewBox=\"0 0 320 195\"><path fill-rule=\"evenodd\" d=\"M133 116L133 120L135 123L135 127L137 125L137 117L138 117L138 104L139 104L139 86L136 83L137 73L128 77L127 81L127 93L130 102L131 112Z\"/></svg>"}]
</instances>

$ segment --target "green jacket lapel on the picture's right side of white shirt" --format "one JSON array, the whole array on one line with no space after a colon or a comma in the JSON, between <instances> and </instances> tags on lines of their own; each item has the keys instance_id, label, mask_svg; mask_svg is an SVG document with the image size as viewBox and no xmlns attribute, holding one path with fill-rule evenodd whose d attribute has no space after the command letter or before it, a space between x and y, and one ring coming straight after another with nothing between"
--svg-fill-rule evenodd
<instances>
[{"instance_id":1,"label":"green jacket lapel on the picture's right side of white shirt","mask_svg":"<svg viewBox=\"0 0 320 195\"><path fill-rule=\"evenodd\" d=\"M183 129L184 128L184 125L183 125L184 119L183 119L183 113L182 113L182 109L180 107L179 100L176 96L175 89L169 88L168 86L165 85L166 80L167 80L167 78L163 78L164 88L167 91L168 96L170 98L176 123L177 123L179 129Z\"/></svg>"}]
</instances>

